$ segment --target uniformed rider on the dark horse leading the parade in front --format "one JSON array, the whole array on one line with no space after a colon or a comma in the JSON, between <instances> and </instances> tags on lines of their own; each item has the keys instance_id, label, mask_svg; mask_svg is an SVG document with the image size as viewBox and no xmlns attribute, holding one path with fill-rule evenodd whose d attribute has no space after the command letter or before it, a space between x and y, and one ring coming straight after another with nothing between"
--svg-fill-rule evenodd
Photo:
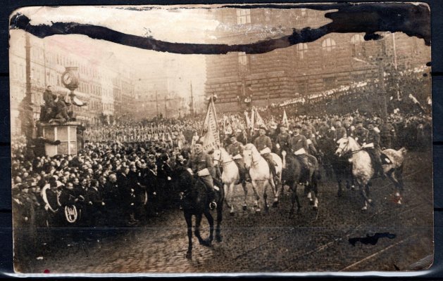
<instances>
[{"instance_id":1,"label":"uniformed rider on the dark horse leading the parade in front","mask_svg":"<svg viewBox=\"0 0 443 281\"><path fill-rule=\"evenodd\" d=\"M189 160L189 168L197 174L208 190L209 208L216 209L216 194L213 178L216 176L211 157L203 151L203 142L196 141L194 153Z\"/></svg>"}]
</instances>

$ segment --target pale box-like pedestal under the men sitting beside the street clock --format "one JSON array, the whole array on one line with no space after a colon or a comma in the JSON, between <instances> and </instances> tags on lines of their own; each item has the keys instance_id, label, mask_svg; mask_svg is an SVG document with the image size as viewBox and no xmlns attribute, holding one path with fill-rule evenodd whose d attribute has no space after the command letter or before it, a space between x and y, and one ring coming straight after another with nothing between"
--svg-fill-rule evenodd
<instances>
[{"instance_id":1,"label":"pale box-like pedestal under the men sitting beside the street clock","mask_svg":"<svg viewBox=\"0 0 443 281\"><path fill-rule=\"evenodd\" d=\"M60 141L59 145L45 143L45 154L49 157L77 155L77 126L80 126L80 122L43 124L43 137L48 141Z\"/></svg>"}]
</instances>

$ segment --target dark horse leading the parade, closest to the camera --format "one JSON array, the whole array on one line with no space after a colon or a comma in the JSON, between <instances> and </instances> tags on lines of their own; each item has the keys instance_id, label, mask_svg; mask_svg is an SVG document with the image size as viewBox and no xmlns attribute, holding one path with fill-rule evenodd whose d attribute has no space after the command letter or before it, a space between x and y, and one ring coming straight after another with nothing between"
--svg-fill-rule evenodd
<instances>
[{"instance_id":1,"label":"dark horse leading the parade, closest to the camera","mask_svg":"<svg viewBox=\"0 0 443 281\"><path fill-rule=\"evenodd\" d=\"M192 176L186 167L177 167L174 173L174 182L177 185L177 190L182 192L181 206L185 220L187 224L187 237L189 239L189 245L186 253L186 257L190 259L192 257L192 216L195 216L195 228L194 233L199 243L210 247L213 241L214 232L214 219L209 209L208 192L206 186L199 179L198 176ZM219 188L216 192L217 202L217 226L216 226L216 241L221 242L220 224L223 214L223 200L225 199L223 188ZM204 240L200 235L200 223L202 215L206 216L209 223L209 237Z\"/></svg>"}]
</instances>

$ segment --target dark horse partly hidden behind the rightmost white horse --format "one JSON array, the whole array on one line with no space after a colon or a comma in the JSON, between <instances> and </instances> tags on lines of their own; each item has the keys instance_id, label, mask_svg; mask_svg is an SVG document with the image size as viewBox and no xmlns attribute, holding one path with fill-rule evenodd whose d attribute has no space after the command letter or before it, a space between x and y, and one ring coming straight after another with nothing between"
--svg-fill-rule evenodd
<instances>
[{"instance_id":1,"label":"dark horse partly hidden behind the rightmost white horse","mask_svg":"<svg viewBox=\"0 0 443 281\"><path fill-rule=\"evenodd\" d=\"M332 139L332 137L325 136L318 139L318 148L321 155L321 162L323 164L323 169L328 177L332 177L332 171L335 174L335 178L338 184L337 196L342 196L343 187L342 182L346 182L346 188L354 189L354 176L352 175L352 164L349 162L349 157L344 155L344 157L338 157L335 155L335 150L337 150L337 143Z\"/></svg>"}]
</instances>

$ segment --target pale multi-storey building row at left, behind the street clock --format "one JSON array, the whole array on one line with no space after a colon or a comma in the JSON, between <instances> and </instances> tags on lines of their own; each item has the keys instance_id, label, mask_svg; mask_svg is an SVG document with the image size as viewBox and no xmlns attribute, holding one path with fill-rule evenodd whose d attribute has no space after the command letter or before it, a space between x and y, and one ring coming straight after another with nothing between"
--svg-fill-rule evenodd
<instances>
[{"instance_id":1,"label":"pale multi-storey building row at left, behind the street clock","mask_svg":"<svg viewBox=\"0 0 443 281\"><path fill-rule=\"evenodd\" d=\"M11 37L11 130L12 133L20 133L18 111L26 92L25 34L15 31ZM44 104L46 86L51 86L56 93L70 92L61 82L65 67L70 66L77 67L80 74L75 94L87 103L87 106L73 107L77 120L89 125L101 124L109 117L132 111L135 92L130 67L122 65L111 54L106 63L96 61L92 56L93 53L87 56L77 52L75 46L67 46L63 41L38 39L30 35L30 84L36 120Z\"/></svg>"}]
</instances>

